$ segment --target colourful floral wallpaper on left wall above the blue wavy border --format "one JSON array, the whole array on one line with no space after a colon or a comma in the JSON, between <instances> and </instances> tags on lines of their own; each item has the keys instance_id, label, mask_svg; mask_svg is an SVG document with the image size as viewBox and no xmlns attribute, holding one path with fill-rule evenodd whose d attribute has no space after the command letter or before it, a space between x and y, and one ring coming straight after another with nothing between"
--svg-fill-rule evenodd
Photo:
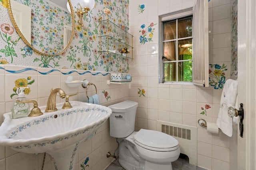
<instances>
[{"instance_id":1,"label":"colourful floral wallpaper on left wall above the blue wavy border","mask_svg":"<svg viewBox=\"0 0 256 170\"><path fill-rule=\"evenodd\" d=\"M56 7L49 6L42 0L22 1L37 6L32 11L32 21L40 26L40 29L33 29L36 34L32 36L32 44L41 47L47 53L57 53L62 42L52 49L46 44L54 43L56 37L61 39L60 27L53 28L50 22L58 19L58 26L68 24L71 20L68 13ZM42 5L41 5L42 3ZM98 70L106 72L128 72L131 59L115 54L99 53L100 38L102 30L99 27L98 19L103 16L105 8L110 9L109 19L118 26L128 25L128 0L95 0L95 8L84 15L84 26L78 24L78 16L75 14L75 31L70 47L63 55L48 57L38 55L20 39L12 21L10 20L6 0L0 2L0 64L12 64L21 66L37 66L47 68L68 68L76 70ZM40 7L38 7L40 6ZM44 19L44 20L43 20ZM38 31L38 32L37 32ZM48 34L42 36L41 31ZM103 31L104 32L104 31ZM46 43L46 44L44 44ZM116 47L118 49L118 47Z\"/></svg>"}]
</instances>

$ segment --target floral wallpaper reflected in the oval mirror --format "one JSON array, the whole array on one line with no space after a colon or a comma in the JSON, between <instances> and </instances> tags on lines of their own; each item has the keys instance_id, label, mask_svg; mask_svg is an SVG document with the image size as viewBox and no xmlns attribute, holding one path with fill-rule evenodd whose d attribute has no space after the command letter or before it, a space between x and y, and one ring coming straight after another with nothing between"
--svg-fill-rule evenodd
<instances>
[{"instance_id":1,"label":"floral wallpaper reflected in the oval mirror","mask_svg":"<svg viewBox=\"0 0 256 170\"><path fill-rule=\"evenodd\" d=\"M64 25L72 27L71 15L43 0L16 1L31 8L31 44L33 47L48 54L62 51L63 27ZM32 53L26 55L32 55Z\"/></svg>"}]
</instances>

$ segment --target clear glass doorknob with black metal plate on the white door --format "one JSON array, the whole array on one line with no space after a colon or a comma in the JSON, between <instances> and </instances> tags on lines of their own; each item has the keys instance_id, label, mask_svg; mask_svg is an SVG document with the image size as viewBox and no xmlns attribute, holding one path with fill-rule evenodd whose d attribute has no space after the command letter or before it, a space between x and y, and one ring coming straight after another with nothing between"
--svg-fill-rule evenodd
<instances>
[{"instance_id":1,"label":"clear glass doorknob with black metal plate on the white door","mask_svg":"<svg viewBox=\"0 0 256 170\"><path fill-rule=\"evenodd\" d=\"M239 129L240 129L240 137L243 137L244 133L244 104L240 103L239 110L234 109L233 107L228 107L228 116L229 117L234 117L234 116L239 116L240 117L240 122L239 122Z\"/></svg>"}]
</instances>

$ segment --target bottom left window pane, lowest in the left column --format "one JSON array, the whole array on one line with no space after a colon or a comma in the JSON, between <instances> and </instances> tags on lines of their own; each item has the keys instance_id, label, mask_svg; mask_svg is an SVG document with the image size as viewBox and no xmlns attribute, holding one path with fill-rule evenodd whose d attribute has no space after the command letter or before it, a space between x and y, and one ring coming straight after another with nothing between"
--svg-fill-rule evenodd
<instances>
[{"instance_id":1,"label":"bottom left window pane, lowest in the left column","mask_svg":"<svg viewBox=\"0 0 256 170\"><path fill-rule=\"evenodd\" d=\"M176 81L176 63L164 63L164 81Z\"/></svg>"}]
</instances>

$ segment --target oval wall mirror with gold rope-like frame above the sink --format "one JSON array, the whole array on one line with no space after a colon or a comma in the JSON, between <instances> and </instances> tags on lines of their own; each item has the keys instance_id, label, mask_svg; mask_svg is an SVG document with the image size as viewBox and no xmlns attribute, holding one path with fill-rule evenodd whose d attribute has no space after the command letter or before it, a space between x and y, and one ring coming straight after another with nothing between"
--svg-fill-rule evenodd
<instances>
[{"instance_id":1,"label":"oval wall mirror with gold rope-like frame above the sink","mask_svg":"<svg viewBox=\"0 0 256 170\"><path fill-rule=\"evenodd\" d=\"M70 14L66 9L48 0L9 0L9 3L14 27L17 27L20 37L31 50L49 56L60 55L66 51L74 32L73 11ZM29 16L22 12L22 6L31 9ZM31 29L26 21L31 22Z\"/></svg>"}]
</instances>

